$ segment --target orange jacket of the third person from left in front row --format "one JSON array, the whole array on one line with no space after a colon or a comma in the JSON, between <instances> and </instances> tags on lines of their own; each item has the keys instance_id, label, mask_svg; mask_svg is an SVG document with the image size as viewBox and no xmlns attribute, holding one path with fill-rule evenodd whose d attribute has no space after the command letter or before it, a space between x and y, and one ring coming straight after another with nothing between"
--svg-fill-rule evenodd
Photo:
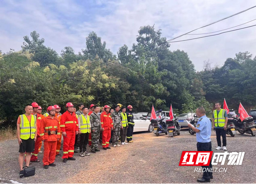
<instances>
[{"instance_id":1,"label":"orange jacket of the third person from left in front row","mask_svg":"<svg viewBox=\"0 0 256 184\"><path fill-rule=\"evenodd\" d=\"M78 120L75 112L64 112L60 117L60 128L62 132L78 131Z\"/></svg>"}]
</instances>

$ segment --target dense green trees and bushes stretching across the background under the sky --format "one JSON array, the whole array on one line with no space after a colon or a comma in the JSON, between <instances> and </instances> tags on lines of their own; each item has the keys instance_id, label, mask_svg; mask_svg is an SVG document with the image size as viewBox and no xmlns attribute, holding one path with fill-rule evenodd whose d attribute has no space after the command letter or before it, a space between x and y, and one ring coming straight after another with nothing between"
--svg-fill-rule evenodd
<instances>
[{"instance_id":1,"label":"dense green trees and bushes stretching across the background under the sky","mask_svg":"<svg viewBox=\"0 0 256 184\"><path fill-rule=\"evenodd\" d=\"M37 32L31 40L24 36L21 51L0 52L0 119L11 124L33 101L44 109L59 104L63 110L69 101L132 104L136 112L148 112L152 104L169 110L172 104L176 113L201 105L211 113L211 103L224 97L231 108L240 101L247 108L256 104L256 58L248 52L227 59L222 67L206 64L196 73L188 54L170 51L154 26L141 27L136 40L116 56L91 32L81 52L65 47L59 55Z\"/></svg>"}]
</instances>

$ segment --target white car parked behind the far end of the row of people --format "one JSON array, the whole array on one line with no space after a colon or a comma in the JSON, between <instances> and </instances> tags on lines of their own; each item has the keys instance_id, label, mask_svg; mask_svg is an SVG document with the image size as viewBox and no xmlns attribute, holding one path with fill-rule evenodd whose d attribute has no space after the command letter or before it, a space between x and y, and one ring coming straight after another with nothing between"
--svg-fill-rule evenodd
<instances>
[{"instance_id":1,"label":"white car parked behind the far end of the row of people","mask_svg":"<svg viewBox=\"0 0 256 184\"><path fill-rule=\"evenodd\" d=\"M133 114L133 121L135 123L133 132L152 132L153 131L153 125L150 123L147 118L144 118L143 116L140 116L139 114Z\"/></svg>"}]
</instances>

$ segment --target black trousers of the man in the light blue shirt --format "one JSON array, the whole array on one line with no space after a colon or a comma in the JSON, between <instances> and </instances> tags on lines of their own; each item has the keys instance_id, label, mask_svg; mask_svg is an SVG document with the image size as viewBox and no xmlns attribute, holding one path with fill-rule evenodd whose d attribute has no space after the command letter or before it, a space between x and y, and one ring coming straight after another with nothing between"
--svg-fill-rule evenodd
<instances>
[{"instance_id":1,"label":"black trousers of the man in the light blue shirt","mask_svg":"<svg viewBox=\"0 0 256 184\"><path fill-rule=\"evenodd\" d=\"M212 151L212 142L208 143L199 143L196 144L197 151L203 151L203 152L210 152ZM201 166L203 169L206 168L206 172L203 173L203 178L205 180L210 180L210 177L212 176L212 172L209 172L209 169L212 168L212 158L209 166Z\"/></svg>"}]
</instances>

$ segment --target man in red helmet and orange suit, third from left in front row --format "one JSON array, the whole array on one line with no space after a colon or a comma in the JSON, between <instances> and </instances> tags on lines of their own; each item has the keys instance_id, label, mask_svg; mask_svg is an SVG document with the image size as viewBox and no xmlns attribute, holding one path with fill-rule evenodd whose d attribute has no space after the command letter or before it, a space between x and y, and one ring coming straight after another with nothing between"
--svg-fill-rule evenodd
<instances>
[{"instance_id":1,"label":"man in red helmet and orange suit, third from left in front row","mask_svg":"<svg viewBox=\"0 0 256 184\"><path fill-rule=\"evenodd\" d=\"M60 128L63 135L63 162L76 160L74 155L74 144L76 134L78 134L78 120L73 112L74 105L70 102L66 104L67 111L61 115Z\"/></svg>"}]
</instances>

